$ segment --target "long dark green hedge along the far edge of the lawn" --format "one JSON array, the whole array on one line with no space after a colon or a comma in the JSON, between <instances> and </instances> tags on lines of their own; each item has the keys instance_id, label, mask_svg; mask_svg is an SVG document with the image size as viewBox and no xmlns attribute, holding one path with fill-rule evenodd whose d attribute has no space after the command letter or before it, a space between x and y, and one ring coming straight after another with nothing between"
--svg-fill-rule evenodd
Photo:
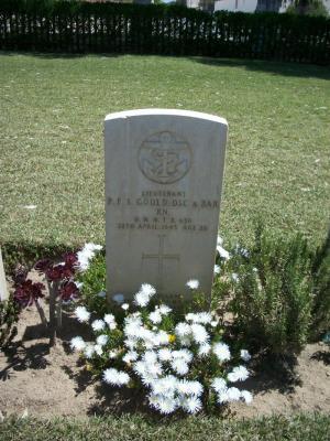
<instances>
[{"instance_id":1,"label":"long dark green hedge along the far edge of the lawn","mask_svg":"<svg viewBox=\"0 0 330 441\"><path fill-rule=\"evenodd\" d=\"M117 52L329 64L330 19L179 6L0 0L0 50Z\"/></svg>"}]
</instances>

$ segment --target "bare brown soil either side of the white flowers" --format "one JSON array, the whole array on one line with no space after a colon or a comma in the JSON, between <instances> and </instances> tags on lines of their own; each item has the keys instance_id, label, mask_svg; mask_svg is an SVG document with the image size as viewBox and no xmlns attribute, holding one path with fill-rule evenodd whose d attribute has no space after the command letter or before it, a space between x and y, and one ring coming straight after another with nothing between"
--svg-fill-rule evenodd
<instances>
[{"instance_id":1,"label":"bare brown soil either side of the white flowers","mask_svg":"<svg viewBox=\"0 0 330 441\"><path fill-rule=\"evenodd\" d=\"M133 390L113 391L92 379L69 351L69 341L86 329L65 314L58 344L50 351L48 338L34 308L26 309L18 335L0 352L0 411L36 417L86 417L143 409ZM330 412L330 356L322 344L307 345L290 369L270 363L252 372L244 388L254 400L232 406L235 418L298 411Z\"/></svg>"}]
</instances>

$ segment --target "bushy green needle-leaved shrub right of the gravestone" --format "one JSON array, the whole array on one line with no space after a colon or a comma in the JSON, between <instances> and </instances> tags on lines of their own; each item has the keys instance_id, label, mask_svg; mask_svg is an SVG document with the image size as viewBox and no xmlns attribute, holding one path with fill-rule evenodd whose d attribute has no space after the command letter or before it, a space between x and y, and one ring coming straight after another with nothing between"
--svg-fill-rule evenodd
<instances>
[{"instance_id":1,"label":"bushy green needle-leaved shrub right of the gravestone","mask_svg":"<svg viewBox=\"0 0 330 441\"><path fill-rule=\"evenodd\" d=\"M312 323L311 255L300 235L272 238L257 228L255 244L237 250L229 310L234 329L250 344L273 354L299 353Z\"/></svg>"}]
</instances>

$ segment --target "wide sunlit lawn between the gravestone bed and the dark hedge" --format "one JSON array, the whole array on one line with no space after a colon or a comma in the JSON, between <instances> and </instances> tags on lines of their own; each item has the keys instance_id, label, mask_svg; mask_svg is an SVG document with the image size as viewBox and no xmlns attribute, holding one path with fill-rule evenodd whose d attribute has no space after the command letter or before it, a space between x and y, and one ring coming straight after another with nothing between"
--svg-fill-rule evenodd
<instances>
[{"instance_id":1,"label":"wide sunlit lawn between the gravestone bed and the dark hedge","mask_svg":"<svg viewBox=\"0 0 330 441\"><path fill-rule=\"evenodd\" d=\"M229 121L220 229L326 235L330 69L161 56L0 53L0 244L105 241L107 114L165 107ZM36 209L26 209L36 205Z\"/></svg>"}]
</instances>

